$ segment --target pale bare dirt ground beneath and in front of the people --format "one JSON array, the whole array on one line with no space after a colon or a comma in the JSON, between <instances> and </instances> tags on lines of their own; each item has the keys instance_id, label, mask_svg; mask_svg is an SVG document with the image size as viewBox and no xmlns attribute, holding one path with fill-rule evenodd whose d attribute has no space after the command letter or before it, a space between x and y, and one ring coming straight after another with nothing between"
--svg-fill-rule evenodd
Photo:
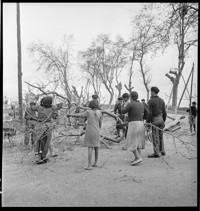
<instances>
[{"instance_id":1,"label":"pale bare dirt ground beneath and in front of the people","mask_svg":"<svg viewBox=\"0 0 200 211\"><path fill-rule=\"evenodd\" d=\"M105 117L103 124L102 133L114 137L114 120ZM181 129L172 134L180 139L165 133L167 155L161 158L147 157L153 152L147 140L143 162L137 166L130 165L133 154L122 150L124 141L107 142L110 149L102 144L98 167L91 171L84 170L87 148L82 146L83 137L60 143L61 139L55 139L58 156L42 165L34 163L32 151L23 149L22 139L12 147L4 140L2 206L197 206L197 137L189 134L187 115Z\"/></svg>"}]
</instances>

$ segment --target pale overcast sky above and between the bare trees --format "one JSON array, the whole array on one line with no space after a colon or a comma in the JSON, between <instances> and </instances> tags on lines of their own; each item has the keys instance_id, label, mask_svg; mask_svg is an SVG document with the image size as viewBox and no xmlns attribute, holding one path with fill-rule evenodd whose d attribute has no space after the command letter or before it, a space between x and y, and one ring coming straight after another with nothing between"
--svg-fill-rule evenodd
<instances>
[{"instance_id":1,"label":"pale overcast sky above and between the bare trees","mask_svg":"<svg viewBox=\"0 0 200 211\"><path fill-rule=\"evenodd\" d=\"M28 46L39 40L44 43L59 45L64 34L74 36L75 53L86 50L97 35L105 33L114 39L120 34L125 40L131 37L132 20L139 13L143 3L20 3L21 44L22 44L22 88L27 90L24 81L34 83L43 80L44 72L36 71L37 65L29 56ZM16 3L3 3L3 96L16 101L18 98L18 69L17 69L17 24ZM192 63L195 63L194 82L197 87L197 49L190 51L183 76L188 78ZM169 48L164 55L158 55L149 61L151 67L151 86L160 89L159 95L167 103L172 89L171 81L165 76L170 68L176 67L176 49ZM81 80L76 79L76 69L71 76L73 85L80 90ZM78 72L77 72L78 74ZM128 83L127 72L122 72L122 84ZM74 78L73 78L74 77ZM139 99L146 99L146 91L141 74L135 66L132 80L134 90ZM190 85L189 85L190 87ZM178 97L180 98L184 83L180 80ZM103 90L103 89L102 89ZM193 88L194 90L194 88ZM125 88L122 93L126 92ZM106 102L109 94L103 90ZM114 100L117 98L117 92ZM189 102L183 97L181 106Z\"/></svg>"}]
</instances>

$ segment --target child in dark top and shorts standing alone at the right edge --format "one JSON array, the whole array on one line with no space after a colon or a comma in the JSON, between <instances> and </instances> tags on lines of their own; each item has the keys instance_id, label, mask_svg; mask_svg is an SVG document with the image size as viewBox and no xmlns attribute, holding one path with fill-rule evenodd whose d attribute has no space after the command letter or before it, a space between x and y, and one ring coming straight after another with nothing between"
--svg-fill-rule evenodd
<instances>
[{"instance_id":1,"label":"child in dark top and shorts standing alone at the right edge","mask_svg":"<svg viewBox=\"0 0 200 211\"><path fill-rule=\"evenodd\" d=\"M189 108L186 110L186 112L189 112L188 116L188 122L190 125L190 133L191 135L196 134L196 116L197 116L197 107L196 107L196 102L192 102L192 105L189 105ZM192 127L194 130L194 133L192 132Z\"/></svg>"}]
</instances>

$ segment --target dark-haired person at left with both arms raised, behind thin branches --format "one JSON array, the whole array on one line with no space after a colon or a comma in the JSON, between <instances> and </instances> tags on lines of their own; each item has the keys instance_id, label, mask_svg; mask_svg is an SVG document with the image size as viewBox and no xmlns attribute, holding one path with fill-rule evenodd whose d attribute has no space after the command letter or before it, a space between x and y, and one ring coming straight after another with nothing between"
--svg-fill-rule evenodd
<instances>
[{"instance_id":1,"label":"dark-haired person at left with both arms raised, behind thin branches","mask_svg":"<svg viewBox=\"0 0 200 211\"><path fill-rule=\"evenodd\" d=\"M51 119L56 118L55 113L60 110L63 103L52 105L53 98L47 96L42 98L40 105L32 105L32 109L38 112L38 125L35 128L35 156L36 163L44 163L48 159L46 155L50 149L50 141L52 137Z\"/></svg>"}]
</instances>

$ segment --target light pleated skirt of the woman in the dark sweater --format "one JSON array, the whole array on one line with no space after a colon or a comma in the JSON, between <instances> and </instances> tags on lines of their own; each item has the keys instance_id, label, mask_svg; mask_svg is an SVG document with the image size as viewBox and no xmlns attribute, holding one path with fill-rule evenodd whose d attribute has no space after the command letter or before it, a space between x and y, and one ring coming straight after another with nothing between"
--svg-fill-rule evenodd
<instances>
[{"instance_id":1,"label":"light pleated skirt of the woman in the dark sweater","mask_svg":"<svg viewBox=\"0 0 200 211\"><path fill-rule=\"evenodd\" d=\"M128 123L128 132L124 148L134 151L145 148L145 127L143 121Z\"/></svg>"}]
</instances>

